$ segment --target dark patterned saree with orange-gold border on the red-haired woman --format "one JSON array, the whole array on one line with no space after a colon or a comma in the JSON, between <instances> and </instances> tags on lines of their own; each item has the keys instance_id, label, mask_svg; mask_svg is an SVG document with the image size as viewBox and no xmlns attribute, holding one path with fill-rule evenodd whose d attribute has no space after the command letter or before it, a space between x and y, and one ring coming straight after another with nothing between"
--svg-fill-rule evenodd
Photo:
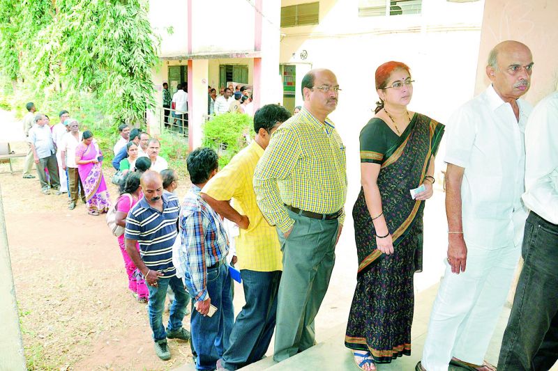
<instances>
[{"instance_id":1,"label":"dark patterned saree with orange-gold border on the red-haired woman","mask_svg":"<svg viewBox=\"0 0 558 371\"><path fill-rule=\"evenodd\" d=\"M444 125L416 113L395 145L383 154L377 184L394 253L377 249L376 230L363 189L353 207L357 284L345 345L372 354L376 363L411 354L413 276L422 269L424 203L409 189L419 187L442 139Z\"/></svg>"}]
</instances>

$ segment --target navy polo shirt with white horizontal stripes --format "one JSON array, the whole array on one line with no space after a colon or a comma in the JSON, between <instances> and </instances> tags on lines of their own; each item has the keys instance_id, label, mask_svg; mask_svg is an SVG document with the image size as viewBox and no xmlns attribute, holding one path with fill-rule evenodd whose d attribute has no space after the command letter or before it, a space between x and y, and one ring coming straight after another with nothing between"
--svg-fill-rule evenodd
<instances>
[{"instance_id":1,"label":"navy polo shirt with white horizontal stripes","mask_svg":"<svg viewBox=\"0 0 558 371\"><path fill-rule=\"evenodd\" d=\"M179 198L165 194L163 212L153 209L142 198L128 212L126 218L126 239L140 244L140 255L145 266L163 274L163 278L174 277L176 270L172 265L172 244L176 239L176 221L179 218Z\"/></svg>"}]
</instances>

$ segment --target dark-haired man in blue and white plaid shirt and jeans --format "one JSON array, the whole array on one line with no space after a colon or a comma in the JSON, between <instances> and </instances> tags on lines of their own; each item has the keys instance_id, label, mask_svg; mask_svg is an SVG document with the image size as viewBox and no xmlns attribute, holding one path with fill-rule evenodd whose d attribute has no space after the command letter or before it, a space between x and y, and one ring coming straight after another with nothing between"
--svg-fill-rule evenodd
<instances>
[{"instance_id":1,"label":"dark-haired man in blue and white plaid shirt and jeans","mask_svg":"<svg viewBox=\"0 0 558 371\"><path fill-rule=\"evenodd\" d=\"M218 171L218 157L210 148L197 148L186 161L192 187L181 207L182 245L175 261L194 301L190 317L197 370L215 370L229 347L233 324L231 278L227 266L229 241L220 217L199 192ZM176 258L178 260L176 260ZM178 265L178 264L177 264ZM212 316L210 307L217 308Z\"/></svg>"}]
</instances>

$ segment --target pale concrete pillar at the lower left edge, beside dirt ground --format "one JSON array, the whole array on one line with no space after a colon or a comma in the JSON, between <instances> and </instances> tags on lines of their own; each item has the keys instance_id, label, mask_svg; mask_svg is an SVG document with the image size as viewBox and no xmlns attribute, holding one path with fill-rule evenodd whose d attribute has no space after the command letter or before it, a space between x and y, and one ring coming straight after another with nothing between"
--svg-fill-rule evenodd
<instances>
[{"instance_id":1,"label":"pale concrete pillar at the lower left edge, beside dirt ground","mask_svg":"<svg viewBox=\"0 0 558 371\"><path fill-rule=\"evenodd\" d=\"M6 220L0 189L0 318L2 319L2 336L0 336L0 369L26 370L23 355L20 317L17 313L15 287L13 285L12 265L8 249Z\"/></svg>"}]
</instances>

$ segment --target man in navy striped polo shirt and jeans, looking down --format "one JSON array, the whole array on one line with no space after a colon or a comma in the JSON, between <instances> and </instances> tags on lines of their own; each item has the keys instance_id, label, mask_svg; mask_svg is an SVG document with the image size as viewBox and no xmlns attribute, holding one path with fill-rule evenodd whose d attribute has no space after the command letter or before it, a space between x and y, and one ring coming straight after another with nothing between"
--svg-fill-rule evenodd
<instances>
[{"instance_id":1,"label":"man in navy striped polo shirt and jeans, looking down","mask_svg":"<svg viewBox=\"0 0 558 371\"><path fill-rule=\"evenodd\" d=\"M167 338L190 340L183 329L188 294L172 265L172 245L176 239L179 218L179 199L163 193L163 179L156 171L146 171L141 179L144 197L130 210L126 218L126 251L145 277L149 289L148 315L155 352L163 361L170 359ZM136 250L136 242L140 250ZM141 255L140 255L141 253ZM169 324L165 332L163 310L167 287L174 291Z\"/></svg>"}]
</instances>

